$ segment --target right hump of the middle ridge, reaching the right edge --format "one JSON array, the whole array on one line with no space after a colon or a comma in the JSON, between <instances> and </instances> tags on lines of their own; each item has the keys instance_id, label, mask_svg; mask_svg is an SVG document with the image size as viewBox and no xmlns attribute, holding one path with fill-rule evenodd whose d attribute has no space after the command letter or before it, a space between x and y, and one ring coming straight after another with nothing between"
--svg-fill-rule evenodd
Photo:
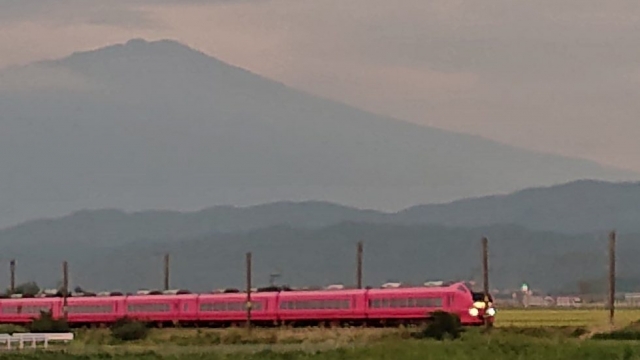
<instances>
[{"instance_id":1,"label":"right hump of the middle ridge, reaching the right edge","mask_svg":"<svg viewBox=\"0 0 640 360\"><path fill-rule=\"evenodd\" d=\"M640 232L640 183L581 180L509 195L420 205L398 212L398 223L446 226L517 224L562 233Z\"/></svg>"}]
</instances>

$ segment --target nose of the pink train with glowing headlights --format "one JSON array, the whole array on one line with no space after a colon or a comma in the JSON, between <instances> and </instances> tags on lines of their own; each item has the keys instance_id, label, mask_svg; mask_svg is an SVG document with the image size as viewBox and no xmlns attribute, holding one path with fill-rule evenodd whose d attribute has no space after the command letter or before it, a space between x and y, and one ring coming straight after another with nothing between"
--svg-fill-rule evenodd
<instances>
[{"instance_id":1,"label":"nose of the pink train with glowing headlights","mask_svg":"<svg viewBox=\"0 0 640 360\"><path fill-rule=\"evenodd\" d=\"M463 325L484 325L493 323L496 316L496 308L493 298L485 302L484 293L474 292L463 283L457 284L454 296L455 313L460 317Z\"/></svg>"}]
</instances>

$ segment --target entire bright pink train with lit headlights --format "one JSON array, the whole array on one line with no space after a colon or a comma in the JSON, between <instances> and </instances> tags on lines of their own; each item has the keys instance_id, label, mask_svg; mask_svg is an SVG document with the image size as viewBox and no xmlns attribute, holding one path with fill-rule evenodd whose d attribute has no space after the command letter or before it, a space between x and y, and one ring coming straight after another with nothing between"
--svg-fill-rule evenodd
<instances>
[{"instance_id":1,"label":"entire bright pink train with lit headlights","mask_svg":"<svg viewBox=\"0 0 640 360\"><path fill-rule=\"evenodd\" d=\"M109 324L128 317L155 324L229 326L246 321L246 293L81 296L67 298L71 325ZM463 325L493 322L495 308L464 283L437 287L251 293L256 325L398 325L422 323L437 310ZM0 323L28 323L41 311L63 316L61 297L0 300Z\"/></svg>"}]
</instances>

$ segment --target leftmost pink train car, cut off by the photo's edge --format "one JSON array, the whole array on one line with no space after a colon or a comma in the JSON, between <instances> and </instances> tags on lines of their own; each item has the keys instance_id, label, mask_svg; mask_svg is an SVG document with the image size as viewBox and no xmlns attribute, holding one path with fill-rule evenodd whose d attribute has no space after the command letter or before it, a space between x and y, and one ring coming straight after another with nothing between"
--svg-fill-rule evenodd
<instances>
[{"instance_id":1,"label":"leftmost pink train car, cut off by the photo's edge","mask_svg":"<svg viewBox=\"0 0 640 360\"><path fill-rule=\"evenodd\" d=\"M61 316L62 298L16 298L0 301L0 323L27 324L40 317L40 312L51 312L54 318Z\"/></svg>"}]
</instances>

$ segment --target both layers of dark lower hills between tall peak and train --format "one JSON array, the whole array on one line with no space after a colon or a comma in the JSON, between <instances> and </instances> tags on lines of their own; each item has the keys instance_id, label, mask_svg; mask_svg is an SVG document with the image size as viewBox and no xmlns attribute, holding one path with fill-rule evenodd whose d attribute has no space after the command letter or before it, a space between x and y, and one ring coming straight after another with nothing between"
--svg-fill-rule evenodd
<instances>
[{"instance_id":1,"label":"both layers of dark lower hills between tall peak and train","mask_svg":"<svg viewBox=\"0 0 640 360\"><path fill-rule=\"evenodd\" d=\"M640 290L639 197L640 183L578 181L397 213L318 201L84 210L1 230L0 247L3 258L18 259L19 279L55 284L67 260L72 283L121 290L159 286L169 252L174 286L206 291L240 286L246 251L257 283L275 270L290 284L348 283L357 241L365 243L368 284L469 279L479 276L479 239L487 236L493 284L549 290L601 277L607 232L616 229L620 276Z\"/></svg>"}]
</instances>

